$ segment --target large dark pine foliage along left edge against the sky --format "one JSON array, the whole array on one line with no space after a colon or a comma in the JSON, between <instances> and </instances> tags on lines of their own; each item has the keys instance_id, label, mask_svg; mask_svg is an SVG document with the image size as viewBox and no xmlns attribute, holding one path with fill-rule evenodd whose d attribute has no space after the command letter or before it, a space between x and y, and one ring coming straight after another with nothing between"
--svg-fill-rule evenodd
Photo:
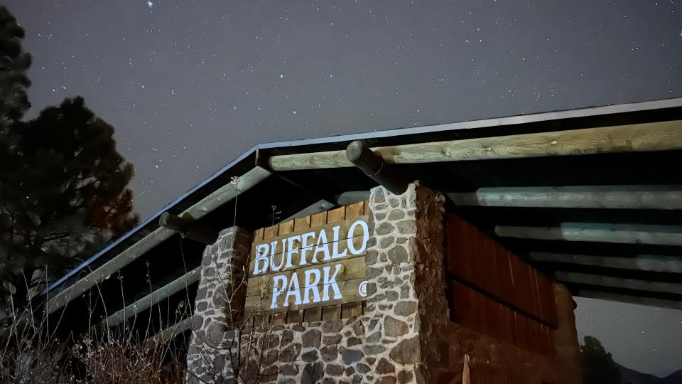
<instances>
[{"instance_id":1,"label":"large dark pine foliage along left edge against the sky","mask_svg":"<svg viewBox=\"0 0 682 384\"><path fill-rule=\"evenodd\" d=\"M82 97L20 121L30 107L22 36L0 6L0 306L8 294L26 302L36 269L58 276L138 222L127 188L133 166L116 149L114 127Z\"/></svg>"}]
</instances>

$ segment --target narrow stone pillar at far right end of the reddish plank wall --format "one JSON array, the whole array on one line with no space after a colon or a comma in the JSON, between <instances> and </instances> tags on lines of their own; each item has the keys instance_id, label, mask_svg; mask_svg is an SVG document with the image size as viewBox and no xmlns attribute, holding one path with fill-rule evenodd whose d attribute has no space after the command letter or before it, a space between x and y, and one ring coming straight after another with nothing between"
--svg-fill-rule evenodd
<instances>
[{"instance_id":1,"label":"narrow stone pillar at far right end of the reddish plank wall","mask_svg":"<svg viewBox=\"0 0 682 384\"><path fill-rule=\"evenodd\" d=\"M578 331L575 329L575 302L573 295L563 284L553 283L554 302L558 319L558 329L554 332L556 363L562 371L565 383L580 384L583 382L580 367L580 345Z\"/></svg>"}]
</instances>

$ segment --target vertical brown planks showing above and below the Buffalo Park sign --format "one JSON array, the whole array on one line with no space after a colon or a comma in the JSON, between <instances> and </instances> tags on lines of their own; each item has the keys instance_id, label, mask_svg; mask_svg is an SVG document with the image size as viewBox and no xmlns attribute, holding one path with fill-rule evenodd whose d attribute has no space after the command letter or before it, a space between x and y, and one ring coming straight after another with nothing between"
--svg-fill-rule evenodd
<instances>
[{"instance_id":1,"label":"vertical brown planks showing above and below the Buffalo Park sign","mask_svg":"<svg viewBox=\"0 0 682 384\"><path fill-rule=\"evenodd\" d=\"M326 224L338 223L346 219L359 218L367 214L369 214L369 207L367 203L361 201L350 206L344 206L325 212L316 213L315 215L305 216L305 218L298 218L287 221L286 223L279 223L272 225L271 227L260 228L254 232L254 242L276 238L277 236L286 235L297 230L316 228ZM329 306L318 306L315 308L278 312L275 314L264 314L261 316L254 316L254 323L256 326L266 326L300 322L307 323L310 321L320 320L347 319L349 317L360 316L364 314L365 306L366 301L362 301Z\"/></svg>"}]
</instances>

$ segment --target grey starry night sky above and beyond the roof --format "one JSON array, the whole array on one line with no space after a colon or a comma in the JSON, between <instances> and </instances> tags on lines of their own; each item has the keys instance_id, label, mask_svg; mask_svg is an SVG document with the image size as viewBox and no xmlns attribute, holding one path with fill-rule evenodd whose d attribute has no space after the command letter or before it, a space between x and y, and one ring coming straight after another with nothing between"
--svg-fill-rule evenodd
<instances>
[{"instance_id":1,"label":"grey starry night sky above and beyond the roof","mask_svg":"<svg viewBox=\"0 0 682 384\"><path fill-rule=\"evenodd\" d=\"M7 4L29 115L83 95L143 217L259 142L682 96L679 0ZM682 368L681 311L579 304L617 361Z\"/></svg>"}]
</instances>

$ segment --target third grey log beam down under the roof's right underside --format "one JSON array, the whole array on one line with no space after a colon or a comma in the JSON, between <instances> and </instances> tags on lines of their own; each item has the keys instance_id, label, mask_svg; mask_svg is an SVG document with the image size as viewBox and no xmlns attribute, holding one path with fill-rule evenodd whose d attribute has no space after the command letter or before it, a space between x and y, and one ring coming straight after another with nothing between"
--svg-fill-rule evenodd
<instances>
[{"instance_id":1,"label":"third grey log beam down under the roof's right underside","mask_svg":"<svg viewBox=\"0 0 682 384\"><path fill-rule=\"evenodd\" d=\"M637 257L567 255L563 253L530 252L530 260L605 267L619 270L682 273L682 257L664 255L639 255Z\"/></svg>"}]
</instances>

